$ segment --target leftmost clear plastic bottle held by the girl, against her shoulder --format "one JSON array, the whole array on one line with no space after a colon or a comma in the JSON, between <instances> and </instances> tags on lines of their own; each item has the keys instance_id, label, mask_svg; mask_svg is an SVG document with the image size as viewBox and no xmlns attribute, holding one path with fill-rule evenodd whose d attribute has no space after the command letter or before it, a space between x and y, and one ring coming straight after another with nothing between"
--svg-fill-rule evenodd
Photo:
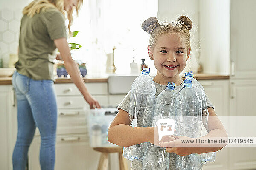
<instances>
[{"instance_id":1,"label":"leftmost clear plastic bottle held by the girl, against her shoulder","mask_svg":"<svg viewBox=\"0 0 256 170\"><path fill-rule=\"evenodd\" d=\"M150 127L152 124L156 87L149 73L149 68L143 68L142 74L131 85L129 113L133 115L132 127ZM142 161L146 144L124 147L124 157Z\"/></svg>"}]
</instances>

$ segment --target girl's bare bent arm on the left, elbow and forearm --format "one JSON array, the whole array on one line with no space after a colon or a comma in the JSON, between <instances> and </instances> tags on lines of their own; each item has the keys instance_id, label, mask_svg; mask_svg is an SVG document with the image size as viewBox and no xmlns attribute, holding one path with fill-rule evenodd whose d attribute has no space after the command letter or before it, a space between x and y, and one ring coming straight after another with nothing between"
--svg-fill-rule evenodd
<instances>
[{"instance_id":1,"label":"girl's bare bent arm on the left, elbow and forearm","mask_svg":"<svg viewBox=\"0 0 256 170\"><path fill-rule=\"evenodd\" d=\"M120 109L108 128L108 141L121 147L152 142L154 128L131 127L129 113Z\"/></svg>"}]
</instances>

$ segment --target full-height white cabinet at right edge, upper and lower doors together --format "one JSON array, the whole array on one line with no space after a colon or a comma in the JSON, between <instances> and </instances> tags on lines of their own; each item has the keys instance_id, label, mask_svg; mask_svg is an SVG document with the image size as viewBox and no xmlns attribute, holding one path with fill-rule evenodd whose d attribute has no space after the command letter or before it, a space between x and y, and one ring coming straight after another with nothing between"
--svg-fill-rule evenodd
<instances>
[{"instance_id":1,"label":"full-height white cabinet at right edge, upper and lower doors together","mask_svg":"<svg viewBox=\"0 0 256 170\"><path fill-rule=\"evenodd\" d=\"M256 1L230 3L230 115L256 116ZM255 129L248 128L246 132L251 133L250 137L256 136ZM255 169L255 153L255 147L229 148L230 169Z\"/></svg>"}]
</instances>

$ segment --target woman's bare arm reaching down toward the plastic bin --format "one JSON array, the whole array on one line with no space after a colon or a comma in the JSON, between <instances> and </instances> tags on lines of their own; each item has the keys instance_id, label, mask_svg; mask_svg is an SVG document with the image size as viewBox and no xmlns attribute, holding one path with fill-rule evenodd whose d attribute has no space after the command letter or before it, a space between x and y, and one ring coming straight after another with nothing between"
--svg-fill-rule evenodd
<instances>
[{"instance_id":1,"label":"woman's bare arm reaching down toward the plastic bin","mask_svg":"<svg viewBox=\"0 0 256 170\"><path fill-rule=\"evenodd\" d=\"M84 80L80 77L81 73L79 71L79 67L71 57L67 39L65 37L58 38L54 40L54 43L60 51L62 59L64 60L64 67L66 68L68 74L70 74L72 81L75 83L79 91L81 91L84 99L90 105L90 108L94 108L95 106L97 108L101 108L99 102L90 95L85 86Z\"/></svg>"}]
</instances>

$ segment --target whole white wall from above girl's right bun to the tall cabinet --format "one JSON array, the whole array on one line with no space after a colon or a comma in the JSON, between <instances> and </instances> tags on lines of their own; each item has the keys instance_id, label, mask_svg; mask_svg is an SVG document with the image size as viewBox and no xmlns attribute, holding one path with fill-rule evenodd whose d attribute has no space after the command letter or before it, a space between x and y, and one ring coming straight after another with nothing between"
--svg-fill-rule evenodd
<instances>
[{"instance_id":1,"label":"whole white wall from above girl's right bun to the tall cabinet","mask_svg":"<svg viewBox=\"0 0 256 170\"><path fill-rule=\"evenodd\" d=\"M191 68L201 62L204 73L229 74L230 0L159 0L160 21L176 20L181 14L193 23Z\"/></svg>"}]
</instances>

